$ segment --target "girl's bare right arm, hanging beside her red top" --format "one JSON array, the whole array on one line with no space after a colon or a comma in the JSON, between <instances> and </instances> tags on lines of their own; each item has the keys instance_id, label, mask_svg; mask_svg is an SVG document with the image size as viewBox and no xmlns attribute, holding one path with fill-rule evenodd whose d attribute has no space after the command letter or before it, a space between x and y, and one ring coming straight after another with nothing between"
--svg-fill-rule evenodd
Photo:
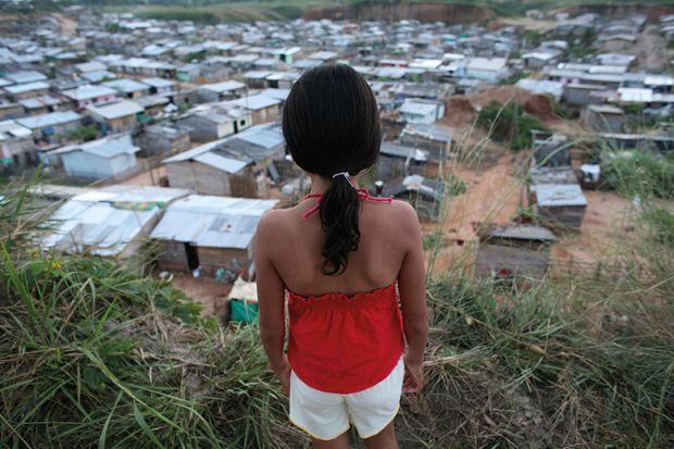
<instances>
[{"instance_id":1,"label":"girl's bare right arm, hanging beside her red top","mask_svg":"<svg viewBox=\"0 0 674 449\"><path fill-rule=\"evenodd\" d=\"M414 210L405 204L401 211L405 240L409 249L398 274L398 288L402 309L402 324L408 351L404 357L408 378L407 391L419 391L423 385L422 362L428 341L428 312L426 310L426 274L421 227Z\"/></svg>"}]
</instances>

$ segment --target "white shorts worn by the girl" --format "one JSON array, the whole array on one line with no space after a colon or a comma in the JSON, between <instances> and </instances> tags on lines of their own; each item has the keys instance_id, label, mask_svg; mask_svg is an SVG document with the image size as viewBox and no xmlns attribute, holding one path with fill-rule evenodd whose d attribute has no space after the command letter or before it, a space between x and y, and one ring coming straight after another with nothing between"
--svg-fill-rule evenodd
<instances>
[{"instance_id":1,"label":"white shorts worn by the girl","mask_svg":"<svg viewBox=\"0 0 674 449\"><path fill-rule=\"evenodd\" d=\"M361 438L384 429L398 414L404 364L362 391L339 395L317 390L290 373L290 421L316 439L334 439L355 425Z\"/></svg>"}]
</instances>

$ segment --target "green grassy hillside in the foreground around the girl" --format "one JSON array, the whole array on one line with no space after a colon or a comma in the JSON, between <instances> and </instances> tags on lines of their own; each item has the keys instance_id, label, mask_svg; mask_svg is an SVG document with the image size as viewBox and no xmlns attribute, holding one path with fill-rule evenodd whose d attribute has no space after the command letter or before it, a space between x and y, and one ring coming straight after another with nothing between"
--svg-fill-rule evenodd
<instances>
[{"instance_id":1,"label":"green grassy hillside in the foreground around the girl","mask_svg":"<svg viewBox=\"0 0 674 449\"><path fill-rule=\"evenodd\" d=\"M427 385L403 399L401 447L674 445L674 214L639 175L615 183L641 199L620 253L646 272L429 277ZM254 326L199 317L134 264L38 251L34 201L13 185L0 202L0 447L307 447Z\"/></svg>"}]
</instances>

